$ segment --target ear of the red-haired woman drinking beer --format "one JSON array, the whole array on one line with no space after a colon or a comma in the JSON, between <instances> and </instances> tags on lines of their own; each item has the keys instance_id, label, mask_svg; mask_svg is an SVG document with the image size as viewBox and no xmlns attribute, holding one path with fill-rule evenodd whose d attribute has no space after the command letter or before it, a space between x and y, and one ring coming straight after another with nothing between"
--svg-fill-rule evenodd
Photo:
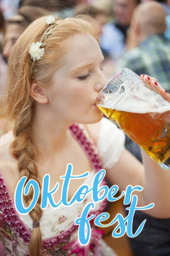
<instances>
[{"instance_id":1,"label":"ear of the red-haired woman drinking beer","mask_svg":"<svg viewBox=\"0 0 170 256\"><path fill-rule=\"evenodd\" d=\"M32 98L36 100L38 103L41 103L41 104L48 103L48 97L46 96L46 94L43 92L42 88L36 81L34 81L31 84L30 94Z\"/></svg>"}]
</instances>

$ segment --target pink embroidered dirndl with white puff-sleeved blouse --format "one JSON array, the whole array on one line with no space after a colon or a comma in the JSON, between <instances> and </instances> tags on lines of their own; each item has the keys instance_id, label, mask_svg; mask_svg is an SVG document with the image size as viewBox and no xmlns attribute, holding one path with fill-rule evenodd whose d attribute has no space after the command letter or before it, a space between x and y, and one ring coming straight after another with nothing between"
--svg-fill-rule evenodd
<instances>
[{"instance_id":1,"label":"pink embroidered dirndl with white puff-sleeved blouse","mask_svg":"<svg viewBox=\"0 0 170 256\"><path fill-rule=\"evenodd\" d=\"M91 160L92 171L85 180L85 183L91 186L96 172L102 168L111 168L117 162L124 149L125 135L106 118L102 118L101 121L98 145L95 145L84 125L71 125L70 130ZM12 138L12 131L9 133ZM104 180L102 185L105 184ZM60 206L57 209L48 207L43 210L40 219L42 255L116 256L116 253L102 240L102 232L93 227L93 223L91 223L92 232L89 244L85 247L79 245L78 226L74 224L74 220L81 215L82 209L91 201L89 194L82 203L74 204L69 208ZM106 204L105 200L96 203L90 215L105 212ZM28 214L17 213L5 180L0 173L0 241L8 256L29 256L28 243L32 230L31 217ZM2 251L0 256L1 253Z\"/></svg>"}]
</instances>

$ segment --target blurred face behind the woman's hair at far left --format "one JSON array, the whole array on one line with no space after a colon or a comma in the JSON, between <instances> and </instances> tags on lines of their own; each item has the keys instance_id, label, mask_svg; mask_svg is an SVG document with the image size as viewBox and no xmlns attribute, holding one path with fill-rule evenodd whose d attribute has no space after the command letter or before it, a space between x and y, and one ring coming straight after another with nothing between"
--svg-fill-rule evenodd
<instances>
[{"instance_id":1,"label":"blurred face behind the woman's hair at far left","mask_svg":"<svg viewBox=\"0 0 170 256\"><path fill-rule=\"evenodd\" d=\"M8 24L6 26L6 32L5 32L5 46L3 49L3 56L8 60L11 50L17 41L17 39L20 37L20 35L23 33L24 27L19 24Z\"/></svg>"}]
</instances>

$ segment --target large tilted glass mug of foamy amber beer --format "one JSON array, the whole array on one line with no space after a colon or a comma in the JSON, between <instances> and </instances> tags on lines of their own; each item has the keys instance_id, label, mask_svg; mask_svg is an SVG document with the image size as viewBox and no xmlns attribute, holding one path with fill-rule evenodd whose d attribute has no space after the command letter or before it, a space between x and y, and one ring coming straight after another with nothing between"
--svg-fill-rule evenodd
<instances>
[{"instance_id":1,"label":"large tilted glass mug of foamy amber beer","mask_svg":"<svg viewBox=\"0 0 170 256\"><path fill-rule=\"evenodd\" d=\"M136 73L121 70L95 103L163 169L170 168L170 103Z\"/></svg>"}]
</instances>

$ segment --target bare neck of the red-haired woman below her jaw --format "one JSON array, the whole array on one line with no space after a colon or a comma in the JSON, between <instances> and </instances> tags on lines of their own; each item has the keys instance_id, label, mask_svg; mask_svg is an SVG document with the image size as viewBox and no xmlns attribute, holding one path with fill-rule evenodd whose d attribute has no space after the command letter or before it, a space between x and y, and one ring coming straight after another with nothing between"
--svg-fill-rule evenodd
<instances>
[{"instance_id":1,"label":"bare neck of the red-haired woman below her jaw","mask_svg":"<svg viewBox=\"0 0 170 256\"><path fill-rule=\"evenodd\" d=\"M71 137L71 123L49 111L45 105L37 105L32 132L34 144L42 155L52 155L65 147Z\"/></svg>"}]
</instances>

